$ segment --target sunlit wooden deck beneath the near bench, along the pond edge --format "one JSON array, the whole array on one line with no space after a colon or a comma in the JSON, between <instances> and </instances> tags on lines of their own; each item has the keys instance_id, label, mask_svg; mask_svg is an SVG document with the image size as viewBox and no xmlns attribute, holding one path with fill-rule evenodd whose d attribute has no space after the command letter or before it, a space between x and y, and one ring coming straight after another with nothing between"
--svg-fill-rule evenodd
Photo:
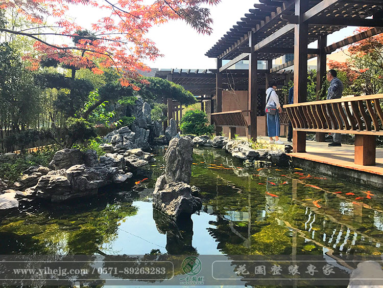
<instances>
[{"instance_id":1,"label":"sunlit wooden deck beneath the near bench, along the pond edge","mask_svg":"<svg viewBox=\"0 0 383 288\"><path fill-rule=\"evenodd\" d=\"M259 138L258 138L259 139ZM268 137L261 137L268 141ZM285 144L286 138L280 138ZM293 158L338 166L361 172L383 176L383 149L376 148L376 165L362 166L354 164L354 145L342 144L342 147L328 147L327 142L306 141L306 153L289 153ZM284 146L284 145L281 145Z\"/></svg>"}]
</instances>

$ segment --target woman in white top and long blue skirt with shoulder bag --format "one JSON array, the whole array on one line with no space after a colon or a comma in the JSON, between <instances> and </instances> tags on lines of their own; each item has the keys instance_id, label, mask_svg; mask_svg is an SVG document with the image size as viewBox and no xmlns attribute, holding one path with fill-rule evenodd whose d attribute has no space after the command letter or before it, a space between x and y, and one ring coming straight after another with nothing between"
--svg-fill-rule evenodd
<instances>
[{"instance_id":1,"label":"woman in white top and long blue skirt with shoulder bag","mask_svg":"<svg viewBox=\"0 0 383 288\"><path fill-rule=\"evenodd\" d=\"M267 130L269 134L270 144L284 144L283 141L279 140L280 124L279 124L279 113L282 112L282 107L279 104L279 97L275 92L277 83L275 80L269 82L269 88L266 90L266 106L274 107L277 109L275 115L266 113L267 117ZM278 113L279 112L279 113ZM275 137L275 140L273 139Z\"/></svg>"}]
</instances>

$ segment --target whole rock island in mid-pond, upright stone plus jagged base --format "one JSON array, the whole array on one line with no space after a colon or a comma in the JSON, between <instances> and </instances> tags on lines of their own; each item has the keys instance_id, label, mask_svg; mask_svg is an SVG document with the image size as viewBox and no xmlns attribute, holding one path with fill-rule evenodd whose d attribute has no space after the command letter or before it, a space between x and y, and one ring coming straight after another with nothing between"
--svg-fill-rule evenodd
<instances>
[{"instance_id":1,"label":"whole rock island in mid-pond, upright stone plus jagged base","mask_svg":"<svg viewBox=\"0 0 383 288\"><path fill-rule=\"evenodd\" d=\"M193 141L188 137L173 138L165 153L165 173L157 179L153 205L163 213L178 218L191 215L202 207L198 188L190 186L193 163Z\"/></svg>"}]
</instances>

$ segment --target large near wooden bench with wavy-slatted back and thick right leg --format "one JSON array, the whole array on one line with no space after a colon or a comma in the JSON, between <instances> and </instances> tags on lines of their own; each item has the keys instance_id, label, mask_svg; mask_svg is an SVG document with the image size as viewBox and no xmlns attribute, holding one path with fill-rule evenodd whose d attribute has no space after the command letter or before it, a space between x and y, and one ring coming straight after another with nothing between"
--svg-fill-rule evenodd
<instances>
[{"instance_id":1,"label":"large near wooden bench with wavy-slatted back and thick right leg","mask_svg":"<svg viewBox=\"0 0 383 288\"><path fill-rule=\"evenodd\" d=\"M383 94L285 105L296 131L355 134L354 163L375 165L376 136L383 135Z\"/></svg>"}]
</instances>

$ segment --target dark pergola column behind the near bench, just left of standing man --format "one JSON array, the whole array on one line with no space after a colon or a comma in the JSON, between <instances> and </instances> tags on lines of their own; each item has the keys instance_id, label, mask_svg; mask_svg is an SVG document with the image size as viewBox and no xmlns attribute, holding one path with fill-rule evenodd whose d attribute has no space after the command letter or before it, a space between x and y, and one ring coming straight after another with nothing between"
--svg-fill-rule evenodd
<instances>
[{"instance_id":1,"label":"dark pergola column behind the near bench, just left of standing man","mask_svg":"<svg viewBox=\"0 0 383 288\"><path fill-rule=\"evenodd\" d=\"M320 100L320 97L323 96L319 94L321 91L322 85L324 83L326 77L326 68L327 68L327 54L325 48L327 46L327 35L318 37L318 49L319 54L317 58L317 101ZM317 132L316 133L316 141L324 142L325 133Z\"/></svg>"}]
</instances>

